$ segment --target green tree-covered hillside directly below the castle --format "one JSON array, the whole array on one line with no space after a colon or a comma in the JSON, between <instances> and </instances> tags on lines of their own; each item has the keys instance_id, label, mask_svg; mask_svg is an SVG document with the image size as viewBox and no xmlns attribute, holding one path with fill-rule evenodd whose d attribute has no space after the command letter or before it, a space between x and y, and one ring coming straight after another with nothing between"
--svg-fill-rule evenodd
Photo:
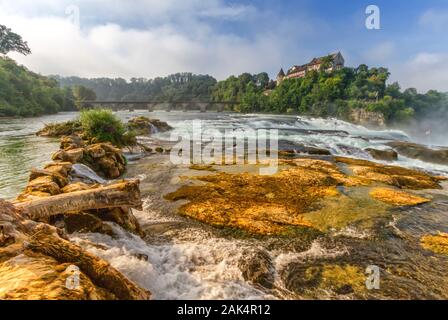
<instances>
[{"instance_id":1,"label":"green tree-covered hillside directly below the castle","mask_svg":"<svg viewBox=\"0 0 448 320\"><path fill-rule=\"evenodd\" d=\"M433 112L448 112L448 97L437 91L418 94L386 85L386 68L343 68L331 73L312 71L303 78L286 79L275 86L265 73L244 73L220 81L212 92L215 101L240 101L233 111L298 113L348 119L355 108L380 112L388 123L420 119Z\"/></svg>"}]
</instances>

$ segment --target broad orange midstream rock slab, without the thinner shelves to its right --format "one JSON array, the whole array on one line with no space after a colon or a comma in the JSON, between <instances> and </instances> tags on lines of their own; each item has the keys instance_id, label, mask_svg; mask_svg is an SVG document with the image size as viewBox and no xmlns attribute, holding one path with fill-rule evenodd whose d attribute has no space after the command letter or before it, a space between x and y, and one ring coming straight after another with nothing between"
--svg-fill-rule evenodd
<instances>
[{"instance_id":1,"label":"broad orange midstream rock slab, without the thinner shelves to its right","mask_svg":"<svg viewBox=\"0 0 448 320\"><path fill-rule=\"evenodd\" d=\"M332 163L294 159L292 168L272 176L247 173L195 177L206 185L183 186L165 196L190 200L181 214L249 233L282 234L294 227L311 227L303 217L322 198L337 197L336 186L350 180Z\"/></svg>"}]
</instances>

